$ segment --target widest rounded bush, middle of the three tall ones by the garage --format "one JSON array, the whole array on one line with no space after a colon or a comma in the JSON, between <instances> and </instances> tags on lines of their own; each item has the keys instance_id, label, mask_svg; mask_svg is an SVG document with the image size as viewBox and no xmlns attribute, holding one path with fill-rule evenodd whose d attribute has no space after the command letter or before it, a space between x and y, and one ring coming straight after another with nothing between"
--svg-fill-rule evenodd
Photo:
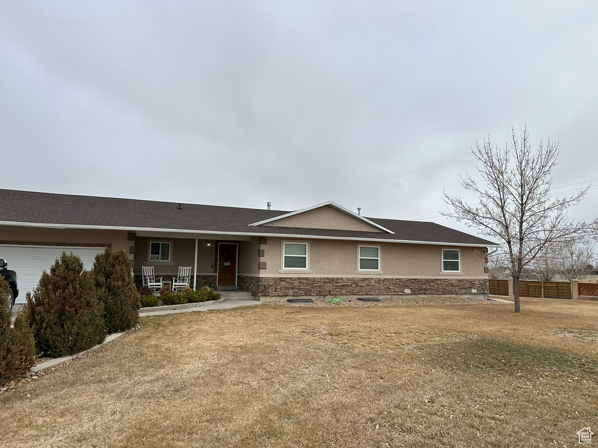
<instances>
[{"instance_id":1,"label":"widest rounded bush, middle of the three tall ones by the garage","mask_svg":"<svg viewBox=\"0 0 598 448\"><path fill-rule=\"evenodd\" d=\"M74 355L106 337L102 302L77 255L63 252L50 273L43 272L33 295L27 293L27 303L35 348L44 356Z\"/></svg>"}]
</instances>

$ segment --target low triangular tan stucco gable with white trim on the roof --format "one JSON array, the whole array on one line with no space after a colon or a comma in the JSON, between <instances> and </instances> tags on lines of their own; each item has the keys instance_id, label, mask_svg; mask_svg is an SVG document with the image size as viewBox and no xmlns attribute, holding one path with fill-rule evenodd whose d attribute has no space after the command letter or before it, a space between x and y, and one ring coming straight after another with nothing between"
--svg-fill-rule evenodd
<instances>
[{"instance_id":1,"label":"low triangular tan stucco gable with white trim on the roof","mask_svg":"<svg viewBox=\"0 0 598 448\"><path fill-rule=\"evenodd\" d=\"M394 232L369 219L353 213L335 202L328 201L291 213L275 216L251 226L292 227L306 229L337 229L361 232L389 233Z\"/></svg>"}]
</instances>

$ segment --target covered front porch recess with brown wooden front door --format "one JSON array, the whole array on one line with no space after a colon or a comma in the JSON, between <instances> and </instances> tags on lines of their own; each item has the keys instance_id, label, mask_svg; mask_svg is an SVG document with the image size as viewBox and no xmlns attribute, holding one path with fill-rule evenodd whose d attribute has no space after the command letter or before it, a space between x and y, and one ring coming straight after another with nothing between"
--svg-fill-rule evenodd
<instances>
[{"instance_id":1,"label":"covered front porch recess with brown wooden front door","mask_svg":"<svg viewBox=\"0 0 598 448\"><path fill-rule=\"evenodd\" d=\"M258 268L258 237L135 232L129 240L134 244L129 250L138 286L143 284L144 266L153 266L155 278L166 285L176 281L179 268L187 267L193 289L242 290L239 275Z\"/></svg>"}]
</instances>

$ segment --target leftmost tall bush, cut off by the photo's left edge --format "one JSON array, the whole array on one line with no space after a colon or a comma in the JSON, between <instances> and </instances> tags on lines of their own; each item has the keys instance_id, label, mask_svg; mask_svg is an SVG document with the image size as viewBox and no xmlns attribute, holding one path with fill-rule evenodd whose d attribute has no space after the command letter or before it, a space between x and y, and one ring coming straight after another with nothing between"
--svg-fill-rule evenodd
<instances>
[{"instance_id":1,"label":"leftmost tall bush, cut off by the photo's left edge","mask_svg":"<svg viewBox=\"0 0 598 448\"><path fill-rule=\"evenodd\" d=\"M17 314L14 328L8 312L8 282L0 275L0 387L28 372L35 363L35 341L25 312Z\"/></svg>"}]
</instances>

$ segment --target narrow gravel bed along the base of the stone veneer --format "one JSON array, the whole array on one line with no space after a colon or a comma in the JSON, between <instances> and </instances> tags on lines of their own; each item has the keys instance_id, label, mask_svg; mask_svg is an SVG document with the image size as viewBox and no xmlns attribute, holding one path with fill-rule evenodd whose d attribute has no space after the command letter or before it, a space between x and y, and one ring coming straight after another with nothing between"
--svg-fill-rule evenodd
<instances>
[{"instance_id":1,"label":"narrow gravel bed along the base of the stone veneer","mask_svg":"<svg viewBox=\"0 0 598 448\"><path fill-rule=\"evenodd\" d=\"M310 296L305 296L310 297ZM299 296L293 296L299 298ZM399 305L474 305L477 303L497 303L493 300L473 299L472 297L438 296L438 297L401 297L392 296L382 302L362 302L358 299L344 299L340 303L327 303L314 300L313 303L289 303L286 300L270 300L263 305L283 306L399 306Z\"/></svg>"}]
</instances>

